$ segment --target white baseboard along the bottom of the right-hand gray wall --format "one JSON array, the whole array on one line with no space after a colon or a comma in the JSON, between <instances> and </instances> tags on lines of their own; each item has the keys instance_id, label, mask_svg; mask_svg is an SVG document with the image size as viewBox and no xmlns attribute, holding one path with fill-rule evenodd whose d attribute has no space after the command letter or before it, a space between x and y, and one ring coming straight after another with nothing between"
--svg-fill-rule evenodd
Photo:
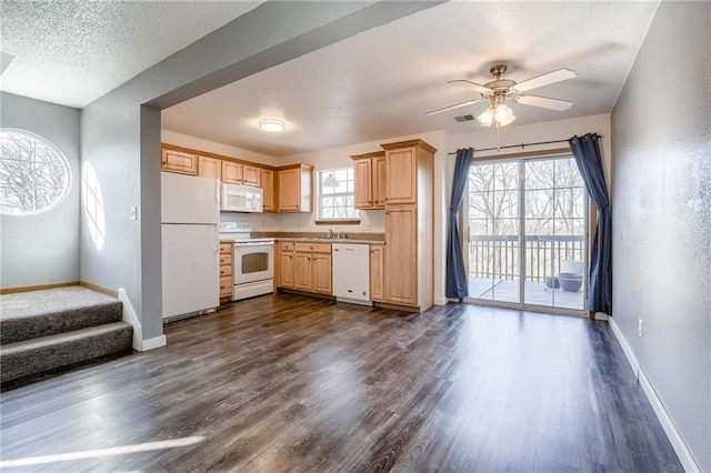
<instances>
[{"instance_id":1,"label":"white baseboard along the bottom of the right-hand gray wall","mask_svg":"<svg viewBox=\"0 0 711 473\"><path fill-rule=\"evenodd\" d=\"M699 467L697 462L693 460L691 452L689 451L689 449L687 447L687 444L684 443L683 439L679 434L677 426L674 425L673 421L669 416L669 412L667 412L667 409L664 409L664 404L662 404L662 400L659 399L659 395L657 395L657 392L654 391L652 383L650 383L649 379L644 374L644 370L642 370L642 366L640 365L637 356L634 355L634 352L630 348L624 335L622 335L620 328L617 325L617 323L614 323L614 318L609 318L608 322L610 323L610 328L612 328L612 333L614 333L614 336L618 339L618 342L620 342L620 345L622 346L622 351L627 356L627 361L632 366L632 370L637 375L637 380L642 386L642 391L644 391L644 394L647 395L647 399L649 400L650 404L652 405L652 409L654 410L654 414L657 414L657 419L659 419L659 422L662 424L662 429L664 429L664 433L667 434L667 437L669 439L671 446L674 449L677 456L679 456L679 461L681 462L681 465L684 467L684 471L701 472L701 469Z\"/></svg>"}]
</instances>

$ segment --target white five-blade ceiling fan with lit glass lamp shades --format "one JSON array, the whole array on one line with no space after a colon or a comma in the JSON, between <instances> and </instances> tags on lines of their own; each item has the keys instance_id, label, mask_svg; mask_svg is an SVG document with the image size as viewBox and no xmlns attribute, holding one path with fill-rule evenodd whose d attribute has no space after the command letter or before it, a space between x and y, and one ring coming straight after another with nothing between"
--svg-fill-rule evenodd
<instances>
[{"instance_id":1,"label":"white five-blade ceiling fan with lit glass lamp shades","mask_svg":"<svg viewBox=\"0 0 711 473\"><path fill-rule=\"evenodd\" d=\"M453 105L429 111L424 114L433 115L437 113L442 113L449 110L458 109L460 107L467 107L488 100L491 102L491 104L487 108L487 110L484 110L483 113L477 117L477 120L479 120L482 127L491 127L491 124L495 124L497 127L505 127L507 124L510 124L513 122L513 120L515 120L513 111L504 103L507 99L515 103L522 103L524 105L541 107L543 109L558 111L568 110L573 104L572 102L569 102L567 100L522 94L523 92L528 92L529 90L537 89L539 87L550 85L551 83L575 78L575 72L570 69L557 69L554 71L524 80L523 82L515 82L510 79L504 79L503 74L507 71L505 64L494 64L491 67L491 69L489 69L489 71L494 77L494 80L492 80L491 82L487 82L483 85L465 79L449 81L449 83L452 83L454 85L464 87L467 89L479 92L481 94L481 99L455 103Z\"/></svg>"}]
</instances>

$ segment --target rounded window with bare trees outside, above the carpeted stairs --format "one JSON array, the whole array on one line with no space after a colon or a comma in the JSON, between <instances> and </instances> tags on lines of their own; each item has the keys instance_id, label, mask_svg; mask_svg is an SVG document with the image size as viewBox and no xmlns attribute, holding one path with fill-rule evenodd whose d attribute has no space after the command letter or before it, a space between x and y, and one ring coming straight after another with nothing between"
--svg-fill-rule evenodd
<instances>
[{"instance_id":1,"label":"rounded window with bare trees outside, above the carpeted stairs","mask_svg":"<svg viewBox=\"0 0 711 473\"><path fill-rule=\"evenodd\" d=\"M0 213L29 215L60 203L71 187L64 155L49 141L17 129L0 129Z\"/></svg>"}]
</instances>

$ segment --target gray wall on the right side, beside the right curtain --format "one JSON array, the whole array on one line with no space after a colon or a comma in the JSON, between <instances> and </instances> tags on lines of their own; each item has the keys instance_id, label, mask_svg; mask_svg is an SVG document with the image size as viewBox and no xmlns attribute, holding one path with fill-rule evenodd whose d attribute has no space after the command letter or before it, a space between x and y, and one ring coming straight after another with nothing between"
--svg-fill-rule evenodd
<instances>
[{"instance_id":1,"label":"gray wall on the right side, beside the right curtain","mask_svg":"<svg viewBox=\"0 0 711 473\"><path fill-rule=\"evenodd\" d=\"M612 113L613 320L702 471L711 471L709 24L711 2L662 2Z\"/></svg>"}]
</instances>

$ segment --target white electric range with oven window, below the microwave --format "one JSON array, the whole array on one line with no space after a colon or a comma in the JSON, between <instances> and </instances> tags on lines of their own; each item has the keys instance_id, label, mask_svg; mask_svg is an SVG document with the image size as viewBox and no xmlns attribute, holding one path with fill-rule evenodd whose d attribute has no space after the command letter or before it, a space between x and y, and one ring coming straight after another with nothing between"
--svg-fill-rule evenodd
<instances>
[{"instance_id":1,"label":"white electric range with oven window, below the microwave","mask_svg":"<svg viewBox=\"0 0 711 473\"><path fill-rule=\"evenodd\" d=\"M274 239L251 238L250 222L220 222L220 240L232 240L232 300L274 292Z\"/></svg>"}]
</instances>

